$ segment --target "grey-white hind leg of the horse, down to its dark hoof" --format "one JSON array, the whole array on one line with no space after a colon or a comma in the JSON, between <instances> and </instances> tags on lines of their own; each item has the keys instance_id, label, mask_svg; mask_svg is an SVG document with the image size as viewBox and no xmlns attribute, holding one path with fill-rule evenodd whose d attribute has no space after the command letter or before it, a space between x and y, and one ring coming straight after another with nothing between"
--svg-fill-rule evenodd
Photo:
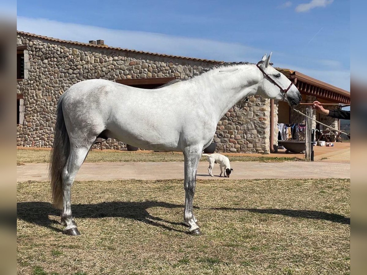
<instances>
[{"instance_id":1,"label":"grey-white hind leg of the horse, down to its dark hoof","mask_svg":"<svg viewBox=\"0 0 367 275\"><path fill-rule=\"evenodd\" d=\"M61 213L61 223L65 225L64 233L67 235L80 235L76 223L72 219L71 211L71 187L76 173L87 157L90 147L76 147L71 144L68 162L62 171L63 209Z\"/></svg>"}]
</instances>

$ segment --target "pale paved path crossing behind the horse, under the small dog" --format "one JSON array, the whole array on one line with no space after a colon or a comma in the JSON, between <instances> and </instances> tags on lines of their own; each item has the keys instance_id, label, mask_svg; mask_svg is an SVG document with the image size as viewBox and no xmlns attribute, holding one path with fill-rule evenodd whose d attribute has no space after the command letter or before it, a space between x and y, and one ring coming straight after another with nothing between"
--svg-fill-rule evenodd
<instances>
[{"instance_id":1,"label":"pale paved path crossing behind the horse, under the small dog","mask_svg":"<svg viewBox=\"0 0 367 275\"><path fill-rule=\"evenodd\" d=\"M350 178L349 163L333 162L232 162L230 179ZM223 179L216 164L215 177L208 176L208 163L200 162L198 179ZM76 180L183 179L183 162L84 163ZM48 180L47 164L17 166L17 180Z\"/></svg>"}]
</instances>

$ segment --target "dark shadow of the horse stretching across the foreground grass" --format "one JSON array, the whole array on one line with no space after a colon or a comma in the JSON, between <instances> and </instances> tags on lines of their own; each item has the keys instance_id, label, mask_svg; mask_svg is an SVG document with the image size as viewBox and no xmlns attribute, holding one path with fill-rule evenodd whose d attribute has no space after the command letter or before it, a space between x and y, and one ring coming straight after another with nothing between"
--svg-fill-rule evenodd
<instances>
[{"instance_id":1,"label":"dark shadow of the horse stretching across the foreground grass","mask_svg":"<svg viewBox=\"0 0 367 275\"><path fill-rule=\"evenodd\" d=\"M171 227L171 225L184 225L175 221L167 221L159 217L149 214L148 209L151 207L163 208L181 208L183 205L159 202L159 201L144 201L144 202L102 202L96 204L75 204L72 205L73 216L76 218L102 218L102 217L122 217L126 219L138 220L143 223L155 225L166 230L186 233L186 231ZM198 207L195 207L198 208ZM245 212L255 212L261 214L275 214L295 218L306 218L316 220L328 220L336 223L350 224L350 218L338 214L326 213L320 211L309 210L293 210L293 209L256 209L256 208L206 208L208 210L232 211L239 210ZM18 202L17 217L18 219L34 223L54 231L62 232L61 229L55 226L58 223L56 220L51 220L49 215L58 216L59 210L52 207L49 202Z\"/></svg>"}]
</instances>

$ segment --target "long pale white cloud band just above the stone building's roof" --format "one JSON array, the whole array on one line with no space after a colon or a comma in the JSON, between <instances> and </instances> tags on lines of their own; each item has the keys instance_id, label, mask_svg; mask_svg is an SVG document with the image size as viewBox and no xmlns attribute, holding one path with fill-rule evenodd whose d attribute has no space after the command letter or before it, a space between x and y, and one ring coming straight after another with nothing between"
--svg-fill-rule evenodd
<instances>
[{"instance_id":1,"label":"long pale white cloud band just above the stone building's roof","mask_svg":"<svg viewBox=\"0 0 367 275\"><path fill-rule=\"evenodd\" d=\"M107 29L43 18L17 18L17 29L23 32L88 43L103 39L112 47L136 49L171 55L224 61L257 62L265 50L239 43L226 43L204 38L170 36L160 33Z\"/></svg>"}]
</instances>

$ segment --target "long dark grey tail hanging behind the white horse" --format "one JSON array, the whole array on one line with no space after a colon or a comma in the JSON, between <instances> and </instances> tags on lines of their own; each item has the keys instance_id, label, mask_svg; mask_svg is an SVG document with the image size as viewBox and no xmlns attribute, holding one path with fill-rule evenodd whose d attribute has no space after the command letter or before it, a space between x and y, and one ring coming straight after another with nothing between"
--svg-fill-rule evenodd
<instances>
[{"instance_id":1,"label":"long dark grey tail hanging behind the white horse","mask_svg":"<svg viewBox=\"0 0 367 275\"><path fill-rule=\"evenodd\" d=\"M52 201L55 208L62 209L62 170L66 165L70 151L68 131L66 131L64 115L62 112L62 96L57 104L57 121L54 131L54 146L50 155L49 176L52 189Z\"/></svg>"}]
</instances>

